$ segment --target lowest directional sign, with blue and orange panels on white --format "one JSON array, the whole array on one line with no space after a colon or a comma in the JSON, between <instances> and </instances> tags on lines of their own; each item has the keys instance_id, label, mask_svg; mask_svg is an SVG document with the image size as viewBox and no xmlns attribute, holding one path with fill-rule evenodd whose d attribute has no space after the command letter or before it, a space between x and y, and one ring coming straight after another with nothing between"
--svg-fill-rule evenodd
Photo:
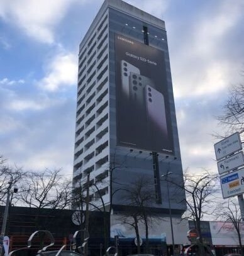
<instances>
[{"instance_id":1,"label":"lowest directional sign, with blue and orange panels on white","mask_svg":"<svg viewBox=\"0 0 244 256\"><path fill-rule=\"evenodd\" d=\"M244 192L244 169L220 177L223 198L230 198Z\"/></svg>"}]
</instances>

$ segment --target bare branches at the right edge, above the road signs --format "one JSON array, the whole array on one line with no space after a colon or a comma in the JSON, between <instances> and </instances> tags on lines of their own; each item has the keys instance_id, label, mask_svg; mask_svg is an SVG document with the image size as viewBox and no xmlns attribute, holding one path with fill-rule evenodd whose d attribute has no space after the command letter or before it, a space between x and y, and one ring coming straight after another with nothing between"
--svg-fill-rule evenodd
<instances>
[{"instance_id":1,"label":"bare branches at the right edge, above the road signs","mask_svg":"<svg viewBox=\"0 0 244 256\"><path fill-rule=\"evenodd\" d=\"M243 72L244 75L244 72ZM244 128L244 83L235 84L229 89L226 103L221 106L223 114L217 117L219 125L224 126L228 136Z\"/></svg>"}]
</instances>

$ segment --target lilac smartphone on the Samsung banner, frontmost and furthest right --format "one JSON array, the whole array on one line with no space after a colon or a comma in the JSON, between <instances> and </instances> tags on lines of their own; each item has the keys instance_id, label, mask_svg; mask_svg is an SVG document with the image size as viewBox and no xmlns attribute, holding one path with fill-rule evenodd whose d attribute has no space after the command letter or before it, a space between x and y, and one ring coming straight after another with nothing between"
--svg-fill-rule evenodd
<instances>
[{"instance_id":1,"label":"lilac smartphone on the Samsung banner, frontmost and furthest right","mask_svg":"<svg viewBox=\"0 0 244 256\"><path fill-rule=\"evenodd\" d=\"M162 150L168 140L164 95L152 86L145 87L147 105L147 128L152 148Z\"/></svg>"}]
</instances>

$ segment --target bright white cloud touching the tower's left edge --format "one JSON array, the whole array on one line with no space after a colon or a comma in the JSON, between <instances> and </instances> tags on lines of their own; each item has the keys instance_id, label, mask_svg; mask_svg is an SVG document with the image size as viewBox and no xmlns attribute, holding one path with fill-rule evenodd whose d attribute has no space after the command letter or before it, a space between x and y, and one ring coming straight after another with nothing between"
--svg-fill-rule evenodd
<instances>
[{"instance_id":1,"label":"bright white cloud touching the tower's left edge","mask_svg":"<svg viewBox=\"0 0 244 256\"><path fill-rule=\"evenodd\" d=\"M60 53L45 67L47 75L38 82L43 90L57 91L60 87L76 86L77 56Z\"/></svg>"}]
</instances>

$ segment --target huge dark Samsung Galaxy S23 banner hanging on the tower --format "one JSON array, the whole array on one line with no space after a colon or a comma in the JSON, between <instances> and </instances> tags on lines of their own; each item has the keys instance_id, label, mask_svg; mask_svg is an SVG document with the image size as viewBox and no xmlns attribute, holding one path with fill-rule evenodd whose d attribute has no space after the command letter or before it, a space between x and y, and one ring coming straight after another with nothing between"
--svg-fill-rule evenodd
<instances>
[{"instance_id":1,"label":"huge dark Samsung Galaxy S23 banner hanging on the tower","mask_svg":"<svg viewBox=\"0 0 244 256\"><path fill-rule=\"evenodd\" d=\"M174 153L164 52L115 35L117 143Z\"/></svg>"}]
</instances>

